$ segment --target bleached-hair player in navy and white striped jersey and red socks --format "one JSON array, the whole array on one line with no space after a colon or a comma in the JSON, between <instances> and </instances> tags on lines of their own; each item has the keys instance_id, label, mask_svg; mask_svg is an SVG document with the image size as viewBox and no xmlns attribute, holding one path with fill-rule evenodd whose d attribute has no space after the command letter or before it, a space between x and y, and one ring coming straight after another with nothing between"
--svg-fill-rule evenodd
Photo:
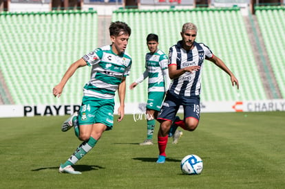
<instances>
[{"instance_id":1,"label":"bleached-hair player in navy and white striped jersey and red socks","mask_svg":"<svg viewBox=\"0 0 285 189\"><path fill-rule=\"evenodd\" d=\"M229 74L232 85L239 88L237 78L224 62L215 56L207 45L195 41L198 28L193 23L184 23L180 35L182 41L169 48L169 77L172 79L169 91L162 105L158 121L159 155L157 163L165 163L165 148L167 147L168 133L171 123L174 130L177 126L187 131L194 131L200 120L200 91L204 59L210 60ZM176 113L183 106L184 120L176 117ZM178 118L178 119L177 119ZM191 144L189 144L191 145Z\"/></svg>"}]
</instances>

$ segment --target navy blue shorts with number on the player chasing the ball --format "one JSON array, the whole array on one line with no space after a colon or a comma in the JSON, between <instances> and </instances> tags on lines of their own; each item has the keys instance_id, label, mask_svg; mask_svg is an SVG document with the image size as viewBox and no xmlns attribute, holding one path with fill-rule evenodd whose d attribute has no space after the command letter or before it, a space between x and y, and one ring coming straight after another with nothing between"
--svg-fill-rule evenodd
<instances>
[{"instance_id":1,"label":"navy blue shorts with number on the player chasing the ball","mask_svg":"<svg viewBox=\"0 0 285 189\"><path fill-rule=\"evenodd\" d=\"M169 93L169 91L160 109L158 120L173 121L180 106L183 107L184 119L196 118L200 120L200 96L178 96L175 93Z\"/></svg>"}]
</instances>

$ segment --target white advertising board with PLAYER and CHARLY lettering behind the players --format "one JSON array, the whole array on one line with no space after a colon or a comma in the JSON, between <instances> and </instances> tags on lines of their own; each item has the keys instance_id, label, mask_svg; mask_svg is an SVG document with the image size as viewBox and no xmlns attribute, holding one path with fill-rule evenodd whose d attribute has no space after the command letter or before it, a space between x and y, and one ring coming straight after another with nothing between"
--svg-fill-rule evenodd
<instances>
[{"instance_id":1,"label":"white advertising board with PLAYER and CHARLY lettering behind the players","mask_svg":"<svg viewBox=\"0 0 285 189\"><path fill-rule=\"evenodd\" d=\"M125 104L125 114L142 116L145 113L145 102ZM80 104L65 105L0 105L0 118L24 116L51 116L70 115L80 109ZM256 100L256 101L231 101L231 102L201 102L201 113L209 112L249 112L249 111L285 111L285 100ZM182 113L180 107L179 113ZM118 104L114 114L118 114Z\"/></svg>"}]
</instances>

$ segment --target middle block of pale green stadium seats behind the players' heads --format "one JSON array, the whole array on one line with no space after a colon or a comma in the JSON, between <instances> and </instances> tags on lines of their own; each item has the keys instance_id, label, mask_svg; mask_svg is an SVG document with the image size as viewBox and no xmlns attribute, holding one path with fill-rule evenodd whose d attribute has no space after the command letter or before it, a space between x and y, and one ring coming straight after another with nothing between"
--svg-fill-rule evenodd
<instances>
[{"instance_id":1,"label":"middle block of pale green stadium seats behind the players' heads","mask_svg":"<svg viewBox=\"0 0 285 189\"><path fill-rule=\"evenodd\" d=\"M123 16L123 14L125 16ZM209 61L204 63L204 78L202 80L202 100L263 100L266 94L258 74L253 57L253 50L248 40L246 26L242 14L237 8L197 8L193 10L149 10L134 12L114 11L113 21L124 17L124 21L132 28L128 51L134 60L130 79L133 82L145 69L144 55L147 52L145 38L150 32L160 37L159 48L168 54L169 47L180 40L180 30L183 23L193 22L198 26L196 41L209 45L214 54L222 58L226 65L235 73L241 82L240 96L231 87L229 76L222 73ZM134 18L136 21L134 21ZM145 21L147 19L147 21ZM156 22L151 22L156 20ZM233 20L235 22L233 22ZM154 24L156 23L156 24ZM144 31L145 32L142 32ZM140 47L137 49L136 47ZM246 52L246 53L244 53ZM248 70L244 70L244 67ZM134 68L135 67L135 68ZM254 73L254 74L251 74ZM251 76L251 79L249 79ZM145 102L147 82L140 84L136 91L127 91L131 100ZM127 100L128 101L128 100Z\"/></svg>"}]
</instances>

